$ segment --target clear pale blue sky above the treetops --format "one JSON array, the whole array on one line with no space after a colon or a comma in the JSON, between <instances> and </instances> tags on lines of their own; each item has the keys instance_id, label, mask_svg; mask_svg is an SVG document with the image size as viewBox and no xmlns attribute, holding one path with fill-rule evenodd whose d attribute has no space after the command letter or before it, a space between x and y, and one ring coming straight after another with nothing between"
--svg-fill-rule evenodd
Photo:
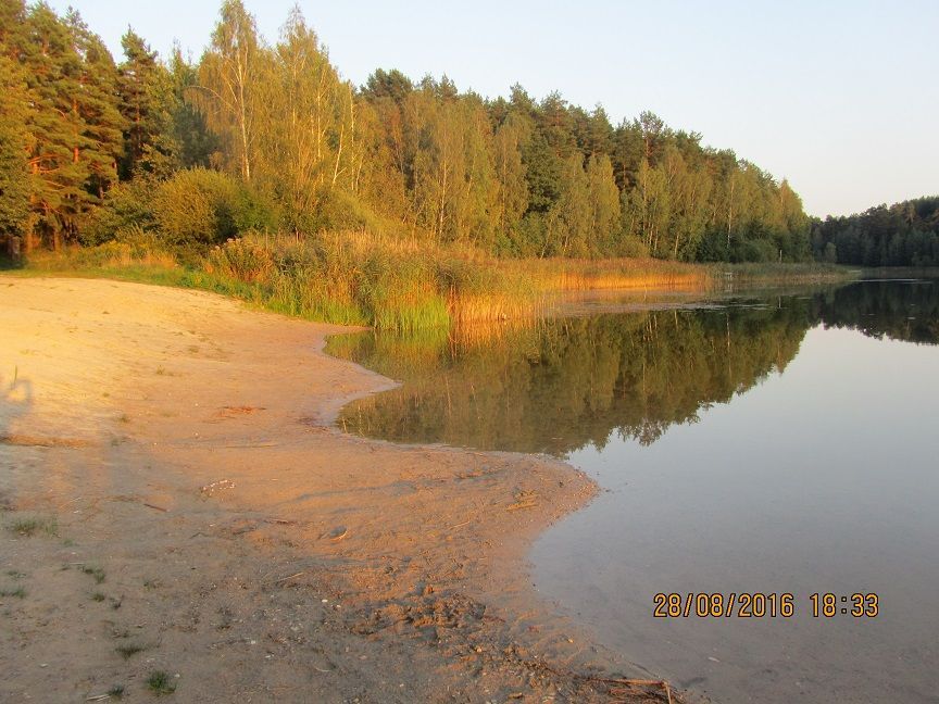
<instances>
[{"instance_id":1,"label":"clear pale blue sky above the treetops","mask_svg":"<svg viewBox=\"0 0 939 704\"><path fill-rule=\"evenodd\" d=\"M268 41L293 0L245 0ZM132 25L198 56L209 0L52 0L120 58ZM311 2L308 22L355 84L376 67L447 74L461 89L641 110L788 177L814 215L939 193L939 2Z\"/></svg>"}]
</instances>

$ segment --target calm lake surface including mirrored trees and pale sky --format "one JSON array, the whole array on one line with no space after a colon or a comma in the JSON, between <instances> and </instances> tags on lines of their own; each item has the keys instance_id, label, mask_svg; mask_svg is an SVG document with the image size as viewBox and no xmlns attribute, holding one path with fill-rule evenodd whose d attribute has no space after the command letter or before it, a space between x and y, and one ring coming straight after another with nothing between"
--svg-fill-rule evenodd
<instances>
[{"instance_id":1,"label":"calm lake surface including mirrored trees and pale sky","mask_svg":"<svg viewBox=\"0 0 939 704\"><path fill-rule=\"evenodd\" d=\"M600 641L716 702L939 702L939 286L865 281L523 329L336 338L402 379L350 431L546 452L605 489L535 544ZM659 592L792 618L654 618ZM813 618L810 594L877 593Z\"/></svg>"}]
</instances>

